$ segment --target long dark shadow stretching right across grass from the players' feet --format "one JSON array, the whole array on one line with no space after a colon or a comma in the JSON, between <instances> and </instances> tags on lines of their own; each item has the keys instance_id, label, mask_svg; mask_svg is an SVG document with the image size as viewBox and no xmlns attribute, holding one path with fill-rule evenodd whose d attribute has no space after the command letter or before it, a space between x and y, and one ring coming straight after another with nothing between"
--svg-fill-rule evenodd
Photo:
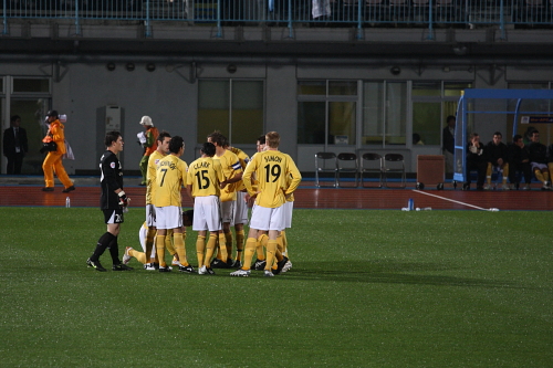
<instances>
[{"instance_id":1,"label":"long dark shadow stretching right across grass from the players' feet","mask_svg":"<svg viewBox=\"0 0 553 368\"><path fill-rule=\"evenodd\" d=\"M460 267L453 264L398 262L398 261L355 261L355 262L302 262L283 274L293 280L328 282L357 282L384 284L414 284L432 286L466 286L492 288L532 288L509 280L488 280L461 276L428 274L430 272L451 272Z\"/></svg>"}]
</instances>

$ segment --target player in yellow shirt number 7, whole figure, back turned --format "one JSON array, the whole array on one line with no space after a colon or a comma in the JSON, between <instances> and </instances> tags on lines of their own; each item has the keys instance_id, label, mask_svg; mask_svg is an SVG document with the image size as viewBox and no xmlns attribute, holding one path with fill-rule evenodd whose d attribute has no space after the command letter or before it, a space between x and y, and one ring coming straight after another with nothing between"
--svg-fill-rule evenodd
<instances>
[{"instance_id":1,"label":"player in yellow shirt number 7, whole figure, back turned","mask_svg":"<svg viewBox=\"0 0 553 368\"><path fill-rule=\"evenodd\" d=\"M180 189L186 182L188 166L179 157L185 153L185 140L175 136L169 141L169 155L157 164L154 204L156 206L156 250L159 260L159 272L170 272L165 262L165 238L167 230L173 229L175 251L180 260L180 272L192 273L194 269L186 260L185 241L182 236L182 215Z\"/></svg>"}]
</instances>

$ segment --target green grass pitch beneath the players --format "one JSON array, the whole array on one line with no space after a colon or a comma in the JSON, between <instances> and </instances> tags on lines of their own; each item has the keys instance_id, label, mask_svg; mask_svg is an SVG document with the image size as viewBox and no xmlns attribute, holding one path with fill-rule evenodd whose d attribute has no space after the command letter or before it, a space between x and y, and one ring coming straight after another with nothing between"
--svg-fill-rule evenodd
<instances>
[{"instance_id":1,"label":"green grass pitch beneath the players","mask_svg":"<svg viewBox=\"0 0 553 368\"><path fill-rule=\"evenodd\" d=\"M139 248L144 211L119 251ZM552 367L551 212L295 210L265 278L85 261L98 209L0 211L1 367ZM187 254L196 265L196 233Z\"/></svg>"}]
</instances>

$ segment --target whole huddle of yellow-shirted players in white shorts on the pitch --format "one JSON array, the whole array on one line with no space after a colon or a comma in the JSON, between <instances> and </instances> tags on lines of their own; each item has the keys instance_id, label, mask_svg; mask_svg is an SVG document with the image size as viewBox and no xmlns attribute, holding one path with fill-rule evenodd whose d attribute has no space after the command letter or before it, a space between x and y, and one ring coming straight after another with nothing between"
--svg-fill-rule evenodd
<instances>
[{"instance_id":1,"label":"whole huddle of yellow-shirted players in white shorts on the pitch","mask_svg":"<svg viewBox=\"0 0 553 368\"><path fill-rule=\"evenodd\" d=\"M230 275L249 276L253 267L273 276L292 266L286 257L285 229L291 225L293 191L301 175L292 158L279 151L276 132L258 139L258 153L251 159L213 132L201 147L201 157L190 166L180 159L185 150L181 137L163 132L157 140L158 148L148 160L146 222L140 229L144 252L127 248L123 264L134 256L147 270L170 272L165 262L167 249L174 255L173 265L195 273L185 248L185 227L191 223L198 232L200 275L215 274L213 269L238 269ZM182 187L194 201L194 211L185 215ZM253 202L253 208L244 250L247 202Z\"/></svg>"}]
</instances>

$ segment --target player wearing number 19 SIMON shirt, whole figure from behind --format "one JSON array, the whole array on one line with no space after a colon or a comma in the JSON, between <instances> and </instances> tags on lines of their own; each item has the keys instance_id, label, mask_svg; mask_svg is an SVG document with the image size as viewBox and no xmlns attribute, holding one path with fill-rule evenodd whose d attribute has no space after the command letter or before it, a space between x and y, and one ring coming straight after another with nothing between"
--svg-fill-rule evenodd
<instances>
[{"instance_id":1,"label":"player wearing number 19 SIMON shirt, whole figure from behind","mask_svg":"<svg viewBox=\"0 0 553 368\"><path fill-rule=\"evenodd\" d=\"M255 253L255 242L258 230L269 231L269 241L267 243L267 264L264 269L265 276L274 276L271 272L276 254L276 236L279 231L284 229L283 204L290 194L300 185L302 176L292 158L279 151L280 135L276 132L270 132L265 135L265 151L255 154L243 174L243 182L251 197L255 197L250 231L246 242L244 264L241 269L232 272L231 276L249 276L250 264ZM255 172L259 181L257 191L253 191L251 176ZM288 177L292 179L289 181ZM288 262L283 257L282 266ZM279 263L281 263L279 262ZM279 269L282 270L279 265Z\"/></svg>"}]
</instances>

